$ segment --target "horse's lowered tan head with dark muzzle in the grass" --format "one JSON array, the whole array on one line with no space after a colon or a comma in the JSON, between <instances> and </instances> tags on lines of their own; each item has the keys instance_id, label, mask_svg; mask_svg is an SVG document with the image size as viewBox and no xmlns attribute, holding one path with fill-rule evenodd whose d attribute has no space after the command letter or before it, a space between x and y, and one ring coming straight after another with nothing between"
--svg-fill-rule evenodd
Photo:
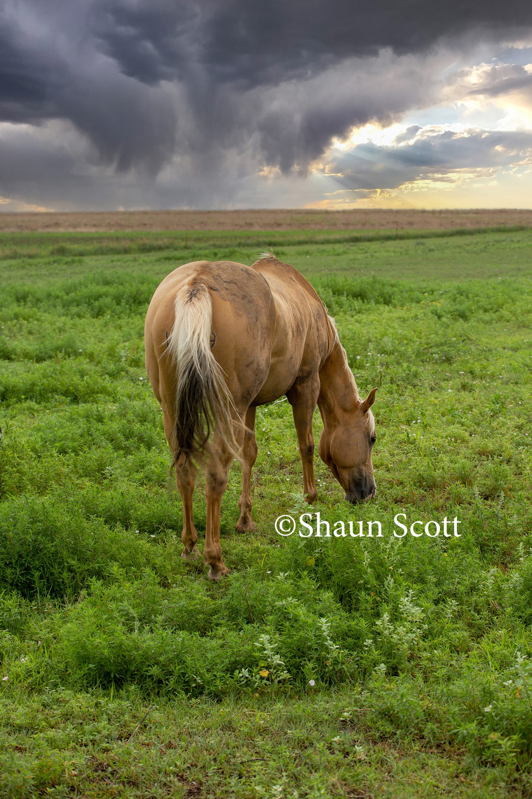
<instances>
[{"instance_id":1,"label":"horse's lowered tan head with dark muzzle in the grass","mask_svg":"<svg viewBox=\"0 0 532 799\"><path fill-rule=\"evenodd\" d=\"M375 419L369 410L376 388L366 400L357 400L349 411L338 411L335 423L320 435L321 460L333 472L348 502L358 503L376 495L372 447L376 440Z\"/></svg>"}]
</instances>

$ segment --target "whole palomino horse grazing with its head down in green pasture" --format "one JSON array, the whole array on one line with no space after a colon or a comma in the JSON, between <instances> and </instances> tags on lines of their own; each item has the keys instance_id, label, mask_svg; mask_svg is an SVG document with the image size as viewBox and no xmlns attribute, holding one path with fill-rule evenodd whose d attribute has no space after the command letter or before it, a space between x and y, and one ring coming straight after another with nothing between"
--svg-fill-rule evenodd
<instances>
[{"instance_id":1,"label":"whole palomino horse grazing with its head down in green pasture","mask_svg":"<svg viewBox=\"0 0 532 799\"><path fill-rule=\"evenodd\" d=\"M271 255L253 266L205 260L184 264L153 295L144 328L146 371L164 414L183 499L184 559L198 559L192 515L195 463L206 475L203 557L209 578L227 574L220 505L232 459L242 464L238 532L251 521L251 469L258 405L286 395L294 414L304 493L317 497L312 419L320 409L321 459L357 503L376 492L370 407L361 400L333 320L307 280Z\"/></svg>"}]
</instances>

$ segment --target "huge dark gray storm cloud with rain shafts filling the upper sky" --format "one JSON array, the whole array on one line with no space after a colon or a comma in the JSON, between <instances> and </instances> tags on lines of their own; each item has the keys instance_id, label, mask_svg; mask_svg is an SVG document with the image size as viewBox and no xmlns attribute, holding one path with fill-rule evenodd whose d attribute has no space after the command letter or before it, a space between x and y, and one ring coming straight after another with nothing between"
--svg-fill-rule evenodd
<instances>
[{"instance_id":1,"label":"huge dark gray storm cloud with rain shafts filling the upper sky","mask_svg":"<svg viewBox=\"0 0 532 799\"><path fill-rule=\"evenodd\" d=\"M70 121L122 170L156 173L175 153L212 168L231 148L304 169L332 137L421 101L413 64L399 89L390 69L371 75L370 94L362 58L531 23L522 0L6 0L0 120Z\"/></svg>"}]
</instances>

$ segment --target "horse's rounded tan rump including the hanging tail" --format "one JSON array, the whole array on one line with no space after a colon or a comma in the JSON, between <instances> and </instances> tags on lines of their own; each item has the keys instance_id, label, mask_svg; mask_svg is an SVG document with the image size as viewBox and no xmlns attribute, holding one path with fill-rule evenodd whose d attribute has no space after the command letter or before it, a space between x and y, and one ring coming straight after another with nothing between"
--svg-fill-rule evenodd
<instances>
[{"instance_id":1,"label":"horse's rounded tan rump including the hanging tail","mask_svg":"<svg viewBox=\"0 0 532 799\"><path fill-rule=\"evenodd\" d=\"M227 261L171 272L146 317L146 364L175 464L202 459L211 433L238 452L242 416L268 375L275 308L265 278ZM240 428L240 429L238 429Z\"/></svg>"}]
</instances>

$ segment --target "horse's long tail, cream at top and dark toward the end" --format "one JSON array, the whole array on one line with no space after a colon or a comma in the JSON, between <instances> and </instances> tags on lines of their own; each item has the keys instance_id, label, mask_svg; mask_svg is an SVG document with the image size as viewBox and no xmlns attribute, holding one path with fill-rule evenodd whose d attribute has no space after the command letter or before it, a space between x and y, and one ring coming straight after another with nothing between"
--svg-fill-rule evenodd
<instances>
[{"instance_id":1,"label":"horse's long tail, cream at top and dark toward the end","mask_svg":"<svg viewBox=\"0 0 532 799\"><path fill-rule=\"evenodd\" d=\"M216 430L234 455L234 400L211 352L212 302L198 280L179 288L167 354L175 365L175 466L181 455L200 455ZM234 413L234 416L233 416Z\"/></svg>"}]
</instances>

